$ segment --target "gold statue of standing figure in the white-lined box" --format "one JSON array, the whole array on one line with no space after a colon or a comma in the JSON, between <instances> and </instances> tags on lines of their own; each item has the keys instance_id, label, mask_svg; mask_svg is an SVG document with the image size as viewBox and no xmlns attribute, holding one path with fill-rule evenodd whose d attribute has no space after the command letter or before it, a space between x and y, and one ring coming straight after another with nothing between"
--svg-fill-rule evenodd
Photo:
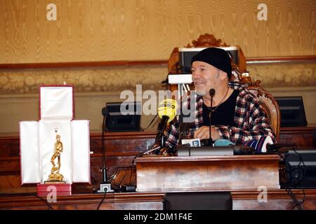
<instances>
[{"instance_id":1,"label":"gold statue of standing figure in the white-lined box","mask_svg":"<svg viewBox=\"0 0 316 224\"><path fill-rule=\"evenodd\" d=\"M64 182L62 179L64 176L60 174L60 153L62 153L62 142L60 141L60 135L56 132L56 142L55 142L55 149L54 154L51 157L51 164L53 165L53 168L51 168L51 174L48 176L48 182ZM55 165L55 159L58 159L58 166Z\"/></svg>"}]
</instances>

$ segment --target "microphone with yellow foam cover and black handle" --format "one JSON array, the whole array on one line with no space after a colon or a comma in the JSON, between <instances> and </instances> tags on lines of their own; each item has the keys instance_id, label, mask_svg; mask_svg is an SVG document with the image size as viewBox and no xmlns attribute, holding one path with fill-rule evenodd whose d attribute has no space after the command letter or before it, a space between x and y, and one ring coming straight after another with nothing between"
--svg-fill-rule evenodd
<instances>
[{"instance_id":1,"label":"microphone with yellow foam cover and black handle","mask_svg":"<svg viewBox=\"0 0 316 224\"><path fill-rule=\"evenodd\" d=\"M157 129L155 144L159 144L161 141L161 146L164 147L164 141L162 137L164 135L164 130L166 129L166 124L171 122L176 117L177 102L174 99L164 99L158 105L158 115L162 120L160 121Z\"/></svg>"}]
</instances>

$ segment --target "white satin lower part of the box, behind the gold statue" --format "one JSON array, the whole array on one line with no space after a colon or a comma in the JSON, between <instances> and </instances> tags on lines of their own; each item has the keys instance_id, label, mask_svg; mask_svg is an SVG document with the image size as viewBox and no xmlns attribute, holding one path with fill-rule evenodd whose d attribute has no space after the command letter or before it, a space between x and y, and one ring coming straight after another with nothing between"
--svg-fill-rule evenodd
<instances>
[{"instance_id":1,"label":"white satin lower part of the box, behind the gold statue","mask_svg":"<svg viewBox=\"0 0 316 224\"><path fill-rule=\"evenodd\" d=\"M53 167L51 157L56 142L56 127L63 146L60 174L67 183L90 183L89 121L40 120L20 122L22 184L48 180Z\"/></svg>"}]
</instances>

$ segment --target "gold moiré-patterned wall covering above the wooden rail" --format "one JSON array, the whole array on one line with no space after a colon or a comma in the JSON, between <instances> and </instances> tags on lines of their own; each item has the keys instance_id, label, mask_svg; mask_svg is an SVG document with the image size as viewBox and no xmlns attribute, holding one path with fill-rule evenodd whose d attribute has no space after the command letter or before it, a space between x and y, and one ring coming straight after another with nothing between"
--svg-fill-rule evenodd
<instances>
[{"instance_id":1,"label":"gold moir\u00e9-patterned wall covering above the wooden rail","mask_svg":"<svg viewBox=\"0 0 316 224\"><path fill-rule=\"evenodd\" d=\"M57 20L46 6L55 3ZM268 6L259 21L258 4ZM246 57L315 55L315 0L0 0L0 64L168 59L200 34Z\"/></svg>"}]
</instances>

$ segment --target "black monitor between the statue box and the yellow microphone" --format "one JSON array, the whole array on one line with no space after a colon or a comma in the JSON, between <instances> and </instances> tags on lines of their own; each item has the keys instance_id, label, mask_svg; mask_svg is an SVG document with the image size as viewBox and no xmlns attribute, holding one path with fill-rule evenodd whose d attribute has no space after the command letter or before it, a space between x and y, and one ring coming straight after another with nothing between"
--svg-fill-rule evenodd
<instances>
[{"instance_id":1,"label":"black monitor between the statue box and the yellow microphone","mask_svg":"<svg viewBox=\"0 0 316 224\"><path fill-rule=\"evenodd\" d=\"M140 131L140 102L111 102L106 104L105 128L107 132Z\"/></svg>"}]
</instances>

